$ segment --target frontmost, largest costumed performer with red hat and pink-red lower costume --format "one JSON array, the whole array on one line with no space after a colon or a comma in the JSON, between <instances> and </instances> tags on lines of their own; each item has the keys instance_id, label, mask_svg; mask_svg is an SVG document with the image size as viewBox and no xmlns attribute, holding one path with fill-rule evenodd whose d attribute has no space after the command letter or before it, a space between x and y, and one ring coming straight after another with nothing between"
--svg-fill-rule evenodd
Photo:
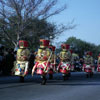
<instances>
[{"instance_id":1,"label":"frontmost, largest costumed performer with red hat and pink-red lower costume","mask_svg":"<svg viewBox=\"0 0 100 100\"><path fill-rule=\"evenodd\" d=\"M35 71L38 75L41 75L42 85L46 84L46 74L50 67L51 52L48 46L49 40L40 39L40 48L37 51L36 63L32 69L32 75Z\"/></svg>"}]
</instances>

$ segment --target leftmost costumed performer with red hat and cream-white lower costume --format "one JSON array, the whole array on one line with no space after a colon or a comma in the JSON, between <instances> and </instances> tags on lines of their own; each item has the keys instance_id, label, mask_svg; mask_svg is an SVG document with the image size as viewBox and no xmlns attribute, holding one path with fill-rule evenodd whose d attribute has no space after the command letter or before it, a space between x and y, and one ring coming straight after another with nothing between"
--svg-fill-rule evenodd
<instances>
[{"instance_id":1,"label":"leftmost costumed performer with red hat and cream-white lower costume","mask_svg":"<svg viewBox=\"0 0 100 100\"><path fill-rule=\"evenodd\" d=\"M28 74L28 59L29 59L28 42L25 40L19 41L16 61L12 72L14 75L20 76L20 82L24 82L24 76Z\"/></svg>"}]
</instances>

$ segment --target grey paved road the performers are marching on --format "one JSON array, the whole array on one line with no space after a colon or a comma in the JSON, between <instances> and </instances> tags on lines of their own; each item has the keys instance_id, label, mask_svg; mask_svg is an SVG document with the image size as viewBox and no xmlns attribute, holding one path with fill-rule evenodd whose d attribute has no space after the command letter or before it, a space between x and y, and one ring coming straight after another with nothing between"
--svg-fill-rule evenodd
<instances>
[{"instance_id":1,"label":"grey paved road the performers are marching on","mask_svg":"<svg viewBox=\"0 0 100 100\"><path fill-rule=\"evenodd\" d=\"M100 74L87 79L83 72L73 72L70 79L62 81L61 74L46 85L40 77L29 75L25 83L15 76L0 77L0 100L100 100Z\"/></svg>"}]
</instances>

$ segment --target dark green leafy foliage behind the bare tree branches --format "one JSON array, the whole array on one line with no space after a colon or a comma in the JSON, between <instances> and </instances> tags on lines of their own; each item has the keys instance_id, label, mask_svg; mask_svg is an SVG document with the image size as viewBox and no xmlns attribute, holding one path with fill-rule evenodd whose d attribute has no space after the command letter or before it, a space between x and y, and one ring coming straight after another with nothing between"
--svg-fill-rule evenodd
<instances>
[{"instance_id":1,"label":"dark green leafy foliage behind the bare tree branches","mask_svg":"<svg viewBox=\"0 0 100 100\"><path fill-rule=\"evenodd\" d=\"M12 43L12 40L14 42L17 42L17 32L18 32L18 25L13 24L12 21L17 22L17 18L16 16L10 17L9 18L9 24L6 25L6 32L7 34L11 37L10 39L8 39L5 35L6 34L2 34L3 33L3 29L2 29L2 25L0 25L0 35L2 37L1 42L2 44L10 47L10 48L14 48L14 45ZM46 38L49 39L50 36L52 36L53 38L55 37L55 25L48 23L45 20L39 20L39 19L28 19L27 22L23 23L24 25L30 23L29 25L27 25L27 27L25 29L23 29L23 31L21 31L20 34L20 39L26 39L29 41L30 44L30 48L31 49L35 49L37 48L37 46L39 45L39 39L40 38Z\"/></svg>"}]
</instances>

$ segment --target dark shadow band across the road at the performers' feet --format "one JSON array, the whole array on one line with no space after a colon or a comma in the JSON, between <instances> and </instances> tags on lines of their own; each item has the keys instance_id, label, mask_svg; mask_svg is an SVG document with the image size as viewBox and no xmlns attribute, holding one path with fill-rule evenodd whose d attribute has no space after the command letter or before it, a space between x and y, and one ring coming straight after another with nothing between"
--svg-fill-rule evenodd
<instances>
[{"instance_id":1,"label":"dark shadow band across the road at the performers' feet","mask_svg":"<svg viewBox=\"0 0 100 100\"><path fill-rule=\"evenodd\" d=\"M48 76L47 76L48 79ZM0 89L14 88L30 85L38 85L41 83L40 76L35 75L32 77L28 75L25 77L25 82L20 83L19 77L9 76L0 77ZM53 80L47 80L46 86L99 86L100 74L95 74L93 78L86 78L85 74L72 74L69 80L63 81L61 74L55 74Z\"/></svg>"}]
</instances>

